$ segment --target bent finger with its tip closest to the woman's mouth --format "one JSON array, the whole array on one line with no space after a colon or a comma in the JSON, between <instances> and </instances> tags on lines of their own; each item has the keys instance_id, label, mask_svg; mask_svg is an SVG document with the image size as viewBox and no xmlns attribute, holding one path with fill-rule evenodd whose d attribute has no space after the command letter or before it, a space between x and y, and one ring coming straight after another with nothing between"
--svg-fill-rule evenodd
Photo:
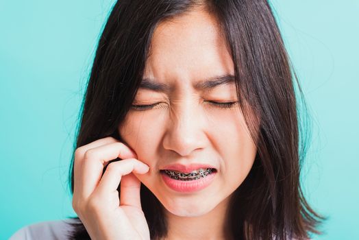
<instances>
[{"instance_id":1,"label":"bent finger with its tip closest to the woman's mouth","mask_svg":"<svg viewBox=\"0 0 359 240\"><path fill-rule=\"evenodd\" d=\"M149 167L145 165L145 163L142 163L140 160L137 160L135 158L129 158L110 163L105 173L103 173L103 176L95 191L98 191L99 194L108 195L110 193L113 193L114 191L117 191L117 188L119 187L121 178L123 176L132 172L138 174L145 174L147 173L147 171L149 171ZM127 182L125 182L125 184L127 184L127 187L136 188L136 184L138 183L134 182L133 179L132 182L131 180L128 181L127 179Z\"/></svg>"}]
</instances>

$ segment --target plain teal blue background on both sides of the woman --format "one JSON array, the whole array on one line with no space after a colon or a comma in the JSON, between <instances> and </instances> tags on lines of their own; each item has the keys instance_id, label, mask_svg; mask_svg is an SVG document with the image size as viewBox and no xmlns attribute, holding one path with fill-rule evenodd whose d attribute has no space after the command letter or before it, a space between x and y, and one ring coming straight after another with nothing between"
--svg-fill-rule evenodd
<instances>
[{"instance_id":1,"label":"plain teal blue background on both sides of the woman","mask_svg":"<svg viewBox=\"0 0 359 240\"><path fill-rule=\"evenodd\" d=\"M67 173L97 39L114 1L0 0L0 239L75 215ZM326 235L359 238L359 1L272 1L312 116L302 172Z\"/></svg>"}]
</instances>

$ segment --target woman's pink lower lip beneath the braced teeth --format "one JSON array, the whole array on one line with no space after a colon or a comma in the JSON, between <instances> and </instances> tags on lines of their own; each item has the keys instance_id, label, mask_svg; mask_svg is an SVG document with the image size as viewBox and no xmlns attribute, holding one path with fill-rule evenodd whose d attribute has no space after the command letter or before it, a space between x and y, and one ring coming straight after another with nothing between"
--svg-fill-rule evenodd
<instances>
[{"instance_id":1,"label":"woman's pink lower lip beneath the braced teeth","mask_svg":"<svg viewBox=\"0 0 359 240\"><path fill-rule=\"evenodd\" d=\"M216 175L216 173L211 173L204 178L190 181L175 180L170 178L166 173L161 173L161 175L164 183L166 183L170 189L180 193L192 193L208 187L208 185L213 181L214 175Z\"/></svg>"}]
</instances>

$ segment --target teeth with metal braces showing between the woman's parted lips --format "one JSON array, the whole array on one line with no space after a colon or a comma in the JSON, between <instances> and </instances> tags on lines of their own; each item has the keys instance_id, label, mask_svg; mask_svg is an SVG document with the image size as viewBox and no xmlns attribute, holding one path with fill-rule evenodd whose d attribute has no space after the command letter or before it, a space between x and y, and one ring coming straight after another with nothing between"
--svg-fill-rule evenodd
<instances>
[{"instance_id":1,"label":"teeth with metal braces showing between the woman's parted lips","mask_svg":"<svg viewBox=\"0 0 359 240\"><path fill-rule=\"evenodd\" d=\"M171 169L164 169L160 171L175 180L193 181L201 178L206 178L206 176L215 173L216 169L214 168L197 169L195 171L191 171L190 173L184 173L182 171L175 171Z\"/></svg>"}]
</instances>

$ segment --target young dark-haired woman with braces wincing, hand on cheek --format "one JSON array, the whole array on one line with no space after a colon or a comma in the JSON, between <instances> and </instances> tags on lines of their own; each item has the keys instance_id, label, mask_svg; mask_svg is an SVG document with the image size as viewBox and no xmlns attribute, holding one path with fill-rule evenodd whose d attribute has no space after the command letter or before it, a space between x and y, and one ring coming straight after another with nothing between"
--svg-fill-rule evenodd
<instances>
[{"instance_id":1,"label":"young dark-haired woman with braces wincing, hand on cheek","mask_svg":"<svg viewBox=\"0 0 359 240\"><path fill-rule=\"evenodd\" d=\"M299 184L306 139L293 75L265 0L118 1L71 164L79 218L51 228L69 235L45 238L319 234L324 218Z\"/></svg>"}]
</instances>

